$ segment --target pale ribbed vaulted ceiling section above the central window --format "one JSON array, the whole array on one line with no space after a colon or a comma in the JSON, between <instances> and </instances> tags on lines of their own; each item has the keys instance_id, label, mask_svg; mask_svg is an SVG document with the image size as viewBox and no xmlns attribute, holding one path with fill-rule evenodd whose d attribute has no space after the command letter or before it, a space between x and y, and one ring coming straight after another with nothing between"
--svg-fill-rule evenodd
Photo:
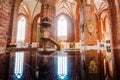
<instances>
[{"instance_id":1,"label":"pale ribbed vaulted ceiling section above the central window","mask_svg":"<svg viewBox=\"0 0 120 80\"><path fill-rule=\"evenodd\" d=\"M56 2L56 15L66 13L70 17L74 17L76 15L76 5L75 0L58 0Z\"/></svg>"}]
</instances>

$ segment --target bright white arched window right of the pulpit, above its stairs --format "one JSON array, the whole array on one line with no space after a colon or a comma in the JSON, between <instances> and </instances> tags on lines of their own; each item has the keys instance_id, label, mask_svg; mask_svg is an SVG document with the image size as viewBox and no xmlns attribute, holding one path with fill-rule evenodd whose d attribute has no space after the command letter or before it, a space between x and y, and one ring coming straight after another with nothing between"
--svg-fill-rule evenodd
<instances>
[{"instance_id":1,"label":"bright white arched window right of the pulpit, above its stairs","mask_svg":"<svg viewBox=\"0 0 120 80\"><path fill-rule=\"evenodd\" d=\"M67 19L61 15L58 18L57 22L57 36L58 37L67 37Z\"/></svg>"}]
</instances>

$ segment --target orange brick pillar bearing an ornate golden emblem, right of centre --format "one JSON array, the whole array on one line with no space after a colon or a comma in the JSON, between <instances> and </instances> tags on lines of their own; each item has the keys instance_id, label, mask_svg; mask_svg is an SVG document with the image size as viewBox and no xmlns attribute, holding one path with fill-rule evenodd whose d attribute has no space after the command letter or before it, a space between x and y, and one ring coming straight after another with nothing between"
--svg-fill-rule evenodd
<instances>
[{"instance_id":1,"label":"orange brick pillar bearing an ornate golden emblem, right of centre","mask_svg":"<svg viewBox=\"0 0 120 80\"><path fill-rule=\"evenodd\" d=\"M93 4L84 4L83 8L83 24L84 24L84 36L85 45L96 45L97 35L96 35L96 21L95 21L95 11Z\"/></svg>"}]
</instances>

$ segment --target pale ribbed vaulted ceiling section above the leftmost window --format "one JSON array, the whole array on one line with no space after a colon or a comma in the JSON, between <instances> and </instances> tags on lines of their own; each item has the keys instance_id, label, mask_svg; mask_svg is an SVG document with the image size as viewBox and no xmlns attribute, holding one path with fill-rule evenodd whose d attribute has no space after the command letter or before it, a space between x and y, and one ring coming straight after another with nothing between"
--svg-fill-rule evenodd
<instances>
[{"instance_id":1,"label":"pale ribbed vaulted ceiling section above the leftmost window","mask_svg":"<svg viewBox=\"0 0 120 80\"><path fill-rule=\"evenodd\" d=\"M23 0L19 6L19 13L29 15L33 19L41 11L41 3L38 0Z\"/></svg>"}]
</instances>

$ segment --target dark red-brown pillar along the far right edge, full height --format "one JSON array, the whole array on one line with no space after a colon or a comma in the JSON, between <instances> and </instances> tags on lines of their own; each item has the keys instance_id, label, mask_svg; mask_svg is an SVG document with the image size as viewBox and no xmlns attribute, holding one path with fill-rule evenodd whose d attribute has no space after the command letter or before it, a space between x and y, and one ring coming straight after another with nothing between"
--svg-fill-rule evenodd
<instances>
[{"instance_id":1,"label":"dark red-brown pillar along the far right edge, full height","mask_svg":"<svg viewBox=\"0 0 120 80\"><path fill-rule=\"evenodd\" d=\"M108 0L111 16L114 80L120 80L120 6L118 0Z\"/></svg>"}]
</instances>

